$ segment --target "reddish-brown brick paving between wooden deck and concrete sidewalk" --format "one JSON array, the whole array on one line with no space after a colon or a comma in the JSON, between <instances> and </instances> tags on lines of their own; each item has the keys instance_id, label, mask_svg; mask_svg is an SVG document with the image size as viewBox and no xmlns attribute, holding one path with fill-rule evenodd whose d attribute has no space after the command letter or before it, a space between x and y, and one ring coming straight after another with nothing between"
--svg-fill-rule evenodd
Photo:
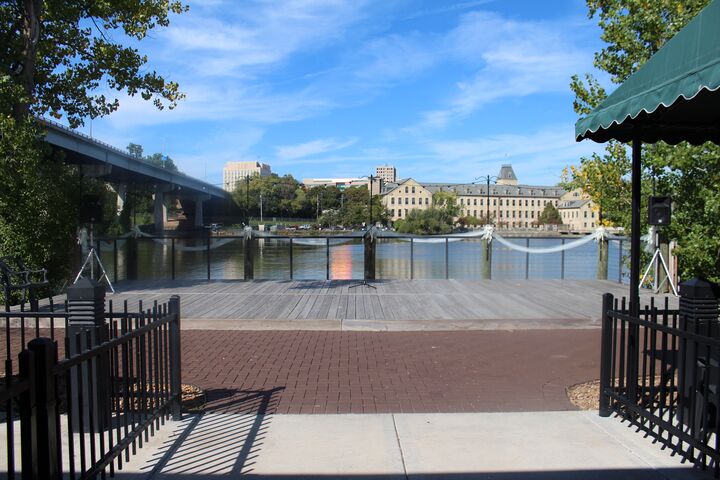
<instances>
[{"instance_id":1,"label":"reddish-brown brick paving between wooden deck and concrete sidewalk","mask_svg":"<svg viewBox=\"0 0 720 480\"><path fill-rule=\"evenodd\" d=\"M183 381L210 410L399 413L570 410L599 374L600 330L184 331Z\"/></svg>"}]
</instances>

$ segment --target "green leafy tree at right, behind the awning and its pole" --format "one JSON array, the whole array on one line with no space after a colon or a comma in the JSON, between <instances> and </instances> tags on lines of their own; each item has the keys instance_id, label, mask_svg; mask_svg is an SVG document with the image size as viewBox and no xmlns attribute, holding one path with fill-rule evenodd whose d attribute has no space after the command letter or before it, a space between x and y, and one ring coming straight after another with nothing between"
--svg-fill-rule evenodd
<instances>
[{"instance_id":1,"label":"green leafy tree at right, behind the awning and its pole","mask_svg":"<svg viewBox=\"0 0 720 480\"><path fill-rule=\"evenodd\" d=\"M594 65L610 75L613 83L625 81L682 29L709 0L587 0L588 16L597 18L604 47ZM574 108L587 115L606 98L605 90L590 74L574 76ZM674 214L664 233L677 239L682 278L700 276L720 280L720 148L705 144L643 147L644 197L653 191L673 196ZM603 219L630 231L630 191L627 185L627 150L608 142L605 154L583 159L578 174L566 180L583 187L600 204ZM609 177L609 180L608 180ZM643 229L645 226L643 226Z\"/></svg>"}]
</instances>

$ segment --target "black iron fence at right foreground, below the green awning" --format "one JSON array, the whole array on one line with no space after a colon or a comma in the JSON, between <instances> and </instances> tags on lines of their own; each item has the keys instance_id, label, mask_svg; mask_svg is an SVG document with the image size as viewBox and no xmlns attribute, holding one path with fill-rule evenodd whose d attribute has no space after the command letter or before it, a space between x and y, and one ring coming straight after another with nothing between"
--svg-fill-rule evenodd
<instances>
[{"instance_id":1,"label":"black iron fence at right foreground, below the green awning","mask_svg":"<svg viewBox=\"0 0 720 480\"><path fill-rule=\"evenodd\" d=\"M603 297L600 415L632 422L720 476L720 323L714 294L681 285L680 309ZM705 291L707 293L707 290ZM633 314L634 313L634 314Z\"/></svg>"}]
</instances>

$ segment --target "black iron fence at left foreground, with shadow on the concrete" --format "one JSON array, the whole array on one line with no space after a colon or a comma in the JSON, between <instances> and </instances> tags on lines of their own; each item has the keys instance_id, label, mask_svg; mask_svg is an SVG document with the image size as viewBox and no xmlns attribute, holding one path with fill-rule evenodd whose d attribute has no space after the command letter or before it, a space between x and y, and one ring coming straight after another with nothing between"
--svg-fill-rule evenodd
<instances>
[{"instance_id":1,"label":"black iron fence at left foreground, with shadow on the concrete","mask_svg":"<svg viewBox=\"0 0 720 480\"><path fill-rule=\"evenodd\" d=\"M179 297L129 312L69 296L60 308L0 313L10 479L113 476L167 417L180 417ZM99 321L88 322L98 307Z\"/></svg>"}]
</instances>

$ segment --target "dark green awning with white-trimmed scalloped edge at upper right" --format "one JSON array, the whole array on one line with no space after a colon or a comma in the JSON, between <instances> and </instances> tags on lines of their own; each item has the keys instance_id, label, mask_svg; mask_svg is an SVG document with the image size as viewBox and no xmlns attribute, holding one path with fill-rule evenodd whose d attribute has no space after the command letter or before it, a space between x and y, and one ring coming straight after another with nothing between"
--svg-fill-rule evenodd
<instances>
[{"instance_id":1,"label":"dark green awning with white-trimmed scalloped edge at upper right","mask_svg":"<svg viewBox=\"0 0 720 480\"><path fill-rule=\"evenodd\" d=\"M575 138L720 143L720 0L580 119Z\"/></svg>"}]
</instances>

